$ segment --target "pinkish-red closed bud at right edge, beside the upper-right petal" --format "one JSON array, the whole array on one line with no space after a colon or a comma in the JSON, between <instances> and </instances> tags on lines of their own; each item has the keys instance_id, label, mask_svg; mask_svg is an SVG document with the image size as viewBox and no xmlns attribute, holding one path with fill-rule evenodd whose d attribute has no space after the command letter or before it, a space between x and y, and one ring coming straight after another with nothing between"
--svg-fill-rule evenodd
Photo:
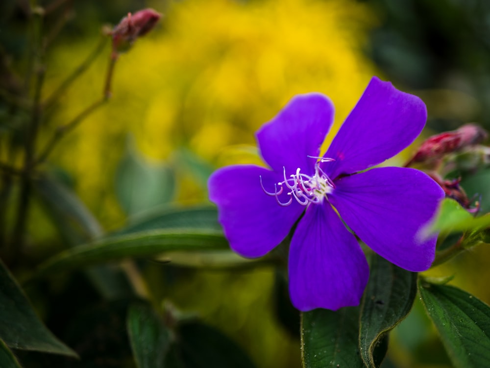
<instances>
[{"instance_id":1,"label":"pinkish-red closed bud at right edge, beside the upper-right petal","mask_svg":"<svg viewBox=\"0 0 490 368\"><path fill-rule=\"evenodd\" d=\"M485 141L487 137L487 132L480 126L466 124L459 129L437 134L428 138L422 143L420 148L418 148L412 162L436 160L447 153L481 143Z\"/></svg>"}]
</instances>

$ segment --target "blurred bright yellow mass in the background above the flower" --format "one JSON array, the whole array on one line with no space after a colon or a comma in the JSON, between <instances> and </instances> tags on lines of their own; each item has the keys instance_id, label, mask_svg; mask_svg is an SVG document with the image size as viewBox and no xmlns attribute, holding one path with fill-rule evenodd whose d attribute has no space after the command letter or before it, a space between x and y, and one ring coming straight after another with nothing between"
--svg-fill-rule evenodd
<instances>
[{"instance_id":1,"label":"blurred bright yellow mass in the background above the flower","mask_svg":"<svg viewBox=\"0 0 490 368\"><path fill-rule=\"evenodd\" d=\"M174 149L187 147L216 165L237 163L234 146L255 145L255 130L295 94L332 98L336 130L376 74L362 54L372 14L356 1L159 4L153 5L164 13L162 25L120 57L109 104L66 137L52 160L73 173L78 193L108 227L123 220L111 193L127 135L150 159L169 160ZM94 34L60 45L45 91L97 42ZM107 49L63 97L57 123L98 98L108 56ZM202 190L188 188L189 175L178 197L205 198Z\"/></svg>"}]
</instances>

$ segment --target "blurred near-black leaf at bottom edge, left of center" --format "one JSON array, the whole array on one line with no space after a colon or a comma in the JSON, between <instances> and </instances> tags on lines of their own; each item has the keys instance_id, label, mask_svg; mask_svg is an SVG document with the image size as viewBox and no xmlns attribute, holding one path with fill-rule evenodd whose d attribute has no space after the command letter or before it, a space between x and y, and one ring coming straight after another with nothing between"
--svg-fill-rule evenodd
<instances>
[{"instance_id":1,"label":"blurred near-black leaf at bottom edge, left of center","mask_svg":"<svg viewBox=\"0 0 490 368\"><path fill-rule=\"evenodd\" d=\"M245 352L219 330L196 321L183 322L177 329L165 367L254 368Z\"/></svg>"}]
</instances>

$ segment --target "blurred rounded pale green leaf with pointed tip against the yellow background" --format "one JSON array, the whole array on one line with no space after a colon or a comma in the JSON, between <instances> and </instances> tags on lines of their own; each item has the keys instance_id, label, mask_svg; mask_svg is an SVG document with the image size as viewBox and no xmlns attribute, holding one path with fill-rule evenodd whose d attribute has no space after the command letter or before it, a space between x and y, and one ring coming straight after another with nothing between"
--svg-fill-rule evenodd
<instances>
[{"instance_id":1,"label":"blurred rounded pale green leaf with pointed tip against the yellow background","mask_svg":"<svg viewBox=\"0 0 490 368\"><path fill-rule=\"evenodd\" d=\"M116 172L116 195L128 216L168 203L175 191L171 167L150 163L128 148Z\"/></svg>"}]
</instances>

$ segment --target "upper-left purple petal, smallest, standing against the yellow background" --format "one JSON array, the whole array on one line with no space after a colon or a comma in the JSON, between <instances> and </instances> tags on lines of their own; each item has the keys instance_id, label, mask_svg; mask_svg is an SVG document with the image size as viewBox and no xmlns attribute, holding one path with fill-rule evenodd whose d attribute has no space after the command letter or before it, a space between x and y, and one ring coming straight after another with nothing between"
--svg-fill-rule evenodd
<instances>
[{"instance_id":1,"label":"upper-left purple petal, smallest, standing against the yellow background","mask_svg":"<svg viewBox=\"0 0 490 368\"><path fill-rule=\"evenodd\" d=\"M276 172L312 173L319 149L333 121L334 107L326 96L318 93L294 97L256 134L265 162Z\"/></svg>"}]
</instances>

